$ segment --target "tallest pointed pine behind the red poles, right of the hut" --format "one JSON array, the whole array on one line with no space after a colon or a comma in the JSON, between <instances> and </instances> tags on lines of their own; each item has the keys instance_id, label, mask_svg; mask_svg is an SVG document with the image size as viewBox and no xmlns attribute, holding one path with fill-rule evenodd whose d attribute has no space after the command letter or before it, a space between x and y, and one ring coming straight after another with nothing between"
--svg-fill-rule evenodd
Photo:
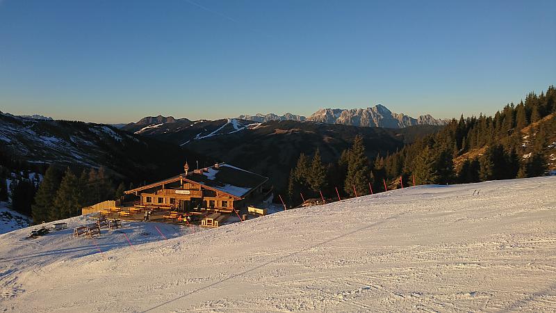
<instances>
[{"instance_id":1,"label":"tallest pointed pine behind the red poles, right of the hut","mask_svg":"<svg viewBox=\"0 0 556 313\"><path fill-rule=\"evenodd\" d=\"M350 148L347 164L347 175L344 184L344 191L347 194L354 196L354 187L357 190L357 195L367 193L370 179L369 165L369 160L365 154L365 146L363 145L363 137L357 135Z\"/></svg>"}]
</instances>

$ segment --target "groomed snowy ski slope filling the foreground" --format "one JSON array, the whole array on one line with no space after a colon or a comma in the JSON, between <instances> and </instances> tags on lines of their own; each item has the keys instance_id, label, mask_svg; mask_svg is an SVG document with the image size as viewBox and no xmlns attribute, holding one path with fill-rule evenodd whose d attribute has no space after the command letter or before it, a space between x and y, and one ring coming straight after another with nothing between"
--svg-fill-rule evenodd
<instances>
[{"instance_id":1,"label":"groomed snowy ski slope filling the foreground","mask_svg":"<svg viewBox=\"0 0 556 313\"><path fill-rule=\"evenodd\" d=\"M555 312L555 188L556 177L418 186L204 231L127 223L133 247L120 231L26 241L26 228L0 235L0 307Z\"/></svg>"}]
</instances>

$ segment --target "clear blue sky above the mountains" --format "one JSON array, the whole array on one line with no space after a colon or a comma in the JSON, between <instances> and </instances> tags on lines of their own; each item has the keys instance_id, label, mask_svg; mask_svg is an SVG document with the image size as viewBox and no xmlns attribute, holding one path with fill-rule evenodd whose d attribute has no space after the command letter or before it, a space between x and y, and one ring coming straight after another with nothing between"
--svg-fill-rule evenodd
<instances>
[{"instance_id":1,"label":"clear blue sky above the mountains","mask_svg":"<svg viewBox=\"0 0 556 313\"><path fill-rule=\"evenodd\" d=\"M0 111L492 114L556 83L555 16L554 0L0 0Z\"/></svg>"}]
</instances>

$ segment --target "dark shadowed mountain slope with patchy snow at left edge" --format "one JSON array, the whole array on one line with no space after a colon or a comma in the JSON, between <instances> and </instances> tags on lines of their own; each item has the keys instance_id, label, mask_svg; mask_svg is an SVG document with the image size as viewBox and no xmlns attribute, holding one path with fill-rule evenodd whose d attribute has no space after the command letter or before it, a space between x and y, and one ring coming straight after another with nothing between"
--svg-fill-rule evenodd
<instances>
[{"instance_id":1,"label":"dark shadowed mountain slope with patchy snow at left edge","mask_svg":"<svg viewBox=\"0 0 556 313\"><path fill-rule=\"evenodd\" d=\"M110 125L0 113L0 169L15 170L20 163L104 166L116 177L138 181L172 175L192 153Z\"/></svg>"}]
</instances>

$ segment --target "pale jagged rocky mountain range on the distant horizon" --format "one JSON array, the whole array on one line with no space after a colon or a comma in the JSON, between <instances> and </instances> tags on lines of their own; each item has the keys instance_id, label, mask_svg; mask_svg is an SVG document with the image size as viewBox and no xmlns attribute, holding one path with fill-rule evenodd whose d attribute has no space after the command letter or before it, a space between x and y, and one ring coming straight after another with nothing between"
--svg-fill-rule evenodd
<instances>
[{"instance_id":1,"label":"pale jagged rocky mountain range on the distant horizon","mask_svg":"<svg viewBox=\"0 0 556 313\"><path fill-rule=\"evenodd\" d=\"M239 115L240 120L252 120L254 122L269 122L271 120L295 120L322 122L327 124L353 125L359 127L385 127L404 128L416 125L446 125L448 120L433 118L430 114L420 115L412 118L404 113L393 113L386 106L377 104L367 109L319 109L309 118L302 115L286 113L277 115L274 113L256 115Z\"/></svg>"}]
</instances>

